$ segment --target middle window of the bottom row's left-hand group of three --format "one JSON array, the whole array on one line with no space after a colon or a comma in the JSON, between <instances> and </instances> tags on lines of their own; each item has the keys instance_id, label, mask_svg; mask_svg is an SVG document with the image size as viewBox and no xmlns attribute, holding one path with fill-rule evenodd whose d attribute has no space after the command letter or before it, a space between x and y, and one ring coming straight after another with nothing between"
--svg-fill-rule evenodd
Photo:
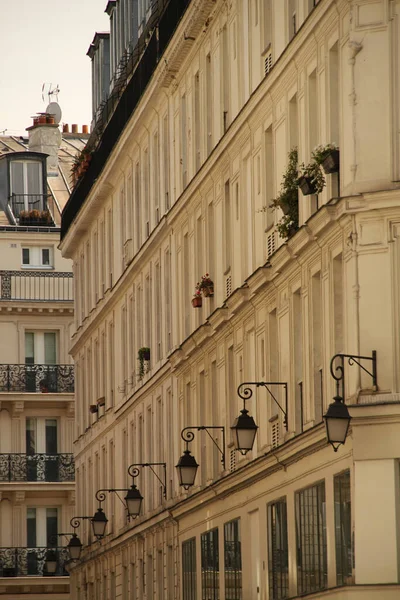
<instances>
[{"instance_id":1,"label":"middle window of the bottom row's left-hand group of three","mask_svg":"<svg viewBox=\"0 0 400 600\"><path fill-rule=\"evenodd\" d=\"M201 589L203 600L219 600L218 529L201 535Z\"/></svg>"}]
</instances>

